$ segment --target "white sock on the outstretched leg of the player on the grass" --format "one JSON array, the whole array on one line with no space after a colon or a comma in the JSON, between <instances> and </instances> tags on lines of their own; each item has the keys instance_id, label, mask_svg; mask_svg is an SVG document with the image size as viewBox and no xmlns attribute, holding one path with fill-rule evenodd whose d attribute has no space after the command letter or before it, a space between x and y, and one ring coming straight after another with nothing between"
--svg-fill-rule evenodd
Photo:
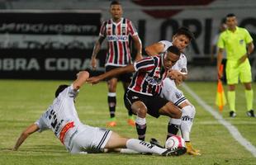
<instances>
[{"instance_id":1,"label":"white sock on the outstretched leg of the player on the grass","mask_svg":"<svg viewBox=\"0 0 256 165\"><path fill-rule=\"evenodd\" d=\"M167 150L166 148L159 148L155 145L149 144L139 139L128 139L126 142L126 147L129 149L135 150L136 152L139 152L139 153L161 154Z\"/></svg>"}]
</instances>

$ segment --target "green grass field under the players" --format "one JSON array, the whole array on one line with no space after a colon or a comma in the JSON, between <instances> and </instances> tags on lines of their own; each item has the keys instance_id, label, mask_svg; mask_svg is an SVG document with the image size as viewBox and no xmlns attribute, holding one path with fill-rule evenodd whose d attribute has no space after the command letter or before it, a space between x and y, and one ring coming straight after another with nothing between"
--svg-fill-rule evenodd
<instances>
[{"instance_id":1,"label":"green grass field under the players","mask_svg":"<svg viewBox=\"0 0 256 165\"><path fill-rule=\"evenodd\" d=\"M17 137L26 126L35 122L40 114L51 104L55 88L64 81L0 81L0 164L256 164L256 158L241 146L229 131L187 92L185 96L197 107L197 115L192 128L192 143L201 150L202 155L193 157L160 157L140 154L100 153L71 155L55 138L51 131L35 133L26 139L19 151L10 150ZM216 82L187 82L194 92L206 104L214 107ZM226 88L226 87L225 87ZM117 126L111 128L127 137L136 138L135 128L126 124L127 112L123 105L123 90L118 86L116 117ZM256 83L254 83L254 108L256 108ZM237 117L230 119L228 106L225 106L223 117L239 130L251 144L256 146L256 118L245 115L244 88L237 87ZM105 127L108 119L107 85L102 82L96 86L85 85L77 99L77 110L80 120L88 125ZM168 117L154 119L147 116L146 140L154 137L163 144L166 136Z\"/></svg>"}]
</instances>

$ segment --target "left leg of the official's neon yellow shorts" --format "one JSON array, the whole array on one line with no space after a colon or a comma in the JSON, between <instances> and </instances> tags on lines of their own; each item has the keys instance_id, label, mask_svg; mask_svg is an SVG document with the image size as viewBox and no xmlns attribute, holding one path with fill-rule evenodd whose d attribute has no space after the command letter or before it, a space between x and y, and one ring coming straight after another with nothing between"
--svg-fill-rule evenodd
<instances>
[{"instance_id":1,"label":"left leg of the official's neon yellow shorts","mask_svg":"<svg viewBox=\"0 0 256 165\"><path fill-rule=\"evenodd\" d=\"M228 84L237 84L239 81L239 68L237 62L228 60L225 68Z\"/></svg>"}]
</instances>

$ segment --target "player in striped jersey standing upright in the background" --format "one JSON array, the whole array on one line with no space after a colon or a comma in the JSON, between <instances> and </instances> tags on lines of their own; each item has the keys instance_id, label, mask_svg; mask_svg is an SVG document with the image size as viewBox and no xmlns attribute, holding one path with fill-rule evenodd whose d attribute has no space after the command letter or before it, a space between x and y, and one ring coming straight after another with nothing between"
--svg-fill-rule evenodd
<instances>
[{"instance_id":1,"label":"player in striped jersey standing upright in the background","mask_svg":"<svg viewBox=\"0 0 256 165\"><path fill-rule=\"evenodd\" d=\"M102 41L107 37L108 52L106 58L106 72L114 68L125 67L131 64L130 48L129 48L129 36L134 40L135 49L137 54L135 60L142 59L141 55L141 42L133 23L122 17L123 10L121 3L118 1L112 1L110 5L111 19L104 21L99 34L93 52L92 52L92 69L97 67L96 56L101 49ZM130 84L132 73L124 73L119 76L109 78L107 80L108 94L107 102L110 111L110 120L107 123L108 126L116 126L116 85L117 81L121 80L123 87L126 91ZM128 124L135 126L135 120L133 119L132 112L128 111Z\"/></svg>"}]
</instances>

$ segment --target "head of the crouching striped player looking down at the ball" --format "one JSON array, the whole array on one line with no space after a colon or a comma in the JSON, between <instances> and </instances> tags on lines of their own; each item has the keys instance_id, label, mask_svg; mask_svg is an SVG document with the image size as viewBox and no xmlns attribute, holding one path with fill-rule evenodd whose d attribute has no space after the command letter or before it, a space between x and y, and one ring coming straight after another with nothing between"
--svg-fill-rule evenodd
<instances>
[{"instance_id":1,"label":"head of the crouching striped player looking down at the ball","mask_svg":"<svg viewBox=\"0 0 256 165\"><path fill-rule=\"evenodd\" d=\"M168 70L173 67L179 59L181 51L178 47L172 45L168 47L168 50L164 54L164 69Z\"/></svg>"}]
</instances>

